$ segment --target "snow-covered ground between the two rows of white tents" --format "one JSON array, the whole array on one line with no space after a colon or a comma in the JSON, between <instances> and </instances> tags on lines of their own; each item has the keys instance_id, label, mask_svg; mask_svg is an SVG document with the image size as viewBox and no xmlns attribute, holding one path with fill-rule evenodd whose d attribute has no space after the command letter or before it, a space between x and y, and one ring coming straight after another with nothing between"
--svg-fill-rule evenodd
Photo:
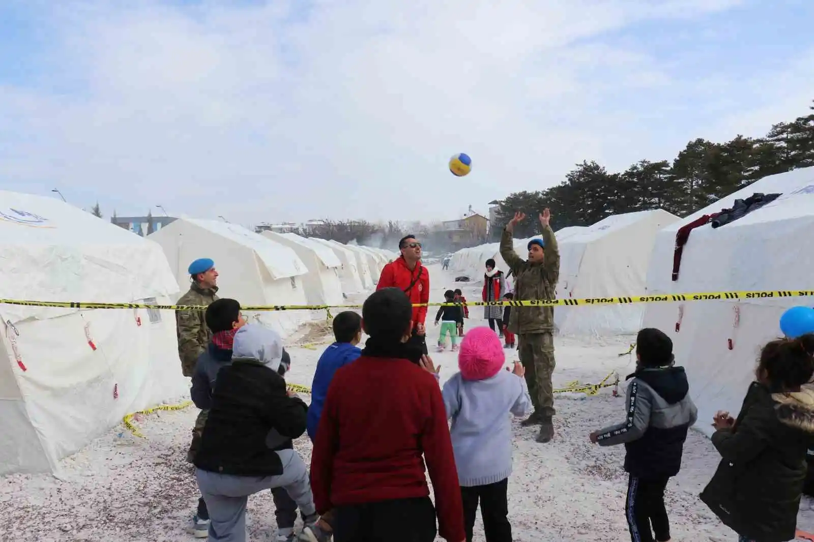
<instances>
[{"instance_id":1,"label":"snow-covered ground between the two rows of white tents","mask_svg":"<svg viewBox=\"0 0 814 542\"><path fill-rule=\"evenodd\" d=\"M455 273L431 267L432 299L446 289L461 287L469 300L478 300L478 282L455 283ZM485 325L483 308L470 308L468 328ZM432 327L434 344L438 328ZM555 386L566 382L599 382L610 371L632 372L626 352L630 337L579 342L557 340ZM322 347L330 341L300 339L288 347L292 367L289 382L309 386ZM306 343L308 342L308 343ZM317 349L313 349L316 347ZM452 352L435 354L442 380L457 369ZM516 352L507 351L516 358ZM620 388L624 391L624 388ZM627 477L622 470L624 448L598 448L589 443L590 431L624 416L622 399L611 389L598 396L558 398L557 435L549 444L536 444L535 429L514 427L514 474L509 483L510 519L514 540L630 540L624 519ZM0 540L50 541L179 541L193 540L184 532L198 497L192 468L186 463L197 411L194 408L152 414L137 421L147 439L119 427L62 461L59 477L11 474L0 479L0 508L4 511ZM702 420L700 423L706 423ZM309 461L311 445L298 439L296 448ZM718 455L710 442L692 431L685 446L684 465L667 487L673 540L737 540L737 536L698 500L711 478ZM272 540L274 504L269 492L249 501L251 540ZM814 530L814 513L800 514L799 527ZM480 520L475 539L483 540Z\"/></svg>"}]
</instances>

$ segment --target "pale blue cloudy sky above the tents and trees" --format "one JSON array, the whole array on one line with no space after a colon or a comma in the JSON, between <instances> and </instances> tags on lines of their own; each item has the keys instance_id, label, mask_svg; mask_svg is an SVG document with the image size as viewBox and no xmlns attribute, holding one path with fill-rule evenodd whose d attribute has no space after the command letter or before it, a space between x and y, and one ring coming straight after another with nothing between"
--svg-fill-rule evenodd
<instances>
[{"instance_id":1,"label":"pale blue cloudy sky above the tents and trees","mask_svg":"<svg viewBox=\"0 0 814 542\"><path fill-rule=\"evenodd\" d=\"M454 218L806 114L812 20L811 0L0 0L0 189L106 216Z\"/></svg>"}]
</instances>

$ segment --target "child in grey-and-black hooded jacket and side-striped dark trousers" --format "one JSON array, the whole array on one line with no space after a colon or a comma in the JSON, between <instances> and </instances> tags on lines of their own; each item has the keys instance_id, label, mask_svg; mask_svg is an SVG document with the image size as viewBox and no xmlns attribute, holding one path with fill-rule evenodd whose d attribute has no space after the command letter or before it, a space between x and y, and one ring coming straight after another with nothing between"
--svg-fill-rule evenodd
<instances>
[{"instance_id":1,"label":"child in grey-and-black hooded jacket and side-striped dark trousers","mask_svg":"<svg viewBox=\"0 0 814 542\"><path fill-rule=\"evenodd\" d=\"M628 375L627 418L594 431L591 442L627 448L625 512L631 540L667 542L670 523L664 488L681 469L687 431L698 419L698 410L689 398L684 368L674 365L672 340L666 334L653 328L639 331L636 359L636 372Z\"/></svg>"}]
</instances>

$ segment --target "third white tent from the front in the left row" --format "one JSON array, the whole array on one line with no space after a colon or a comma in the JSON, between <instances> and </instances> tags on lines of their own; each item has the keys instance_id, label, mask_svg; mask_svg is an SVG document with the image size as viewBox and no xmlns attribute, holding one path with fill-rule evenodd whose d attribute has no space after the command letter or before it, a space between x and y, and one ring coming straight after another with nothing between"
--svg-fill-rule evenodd
<instances>
[{"instance_id":1,"label":"third white tent from the front in the left row","mask_svg":"<svg viewBox=\"0 0 814 542\"><path fill-rule=\"evenodd\" d=\"M308 267L309 272L303 275L303 285L309 305L342 304L342 282L339 279L342 262L339 261L339 256L336 256L334 251L310 238L300 237L297 234L278 234L266 231L263 232L263 235L291 248Z\"/></svg>"}]
</instances>

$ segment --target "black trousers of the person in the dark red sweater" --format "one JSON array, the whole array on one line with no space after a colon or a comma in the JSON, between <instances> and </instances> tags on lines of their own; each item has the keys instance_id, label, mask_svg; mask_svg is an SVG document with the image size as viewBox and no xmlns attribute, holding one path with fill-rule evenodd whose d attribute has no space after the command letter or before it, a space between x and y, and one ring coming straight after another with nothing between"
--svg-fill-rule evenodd
<instances>
[{"instance_id":1,"label":"black trousers of the person in the dark red sweater","mask_svg":"<svg viewBox=\"0 0 814 542\"><path fill-rule=\"evenodd\" d=\"M430 497L379 500L335 508L334 542L433 542Z\"/></svg>"}]
</instances>

